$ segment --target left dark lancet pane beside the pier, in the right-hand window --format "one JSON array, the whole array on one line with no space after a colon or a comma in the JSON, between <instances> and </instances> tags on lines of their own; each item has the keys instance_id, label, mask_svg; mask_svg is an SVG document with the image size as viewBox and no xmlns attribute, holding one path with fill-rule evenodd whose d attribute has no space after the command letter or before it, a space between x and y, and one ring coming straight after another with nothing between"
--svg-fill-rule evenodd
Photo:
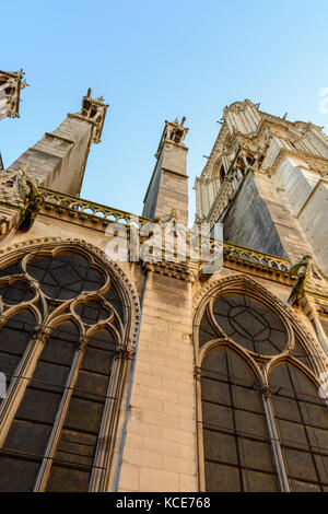
<instances>
[{"instance_id":1,"label":"left dark lancet pane beside the pier, in the right-hand window","mask_svg":"<svg viewBox=\"0 0 328 514\"><path fill-rule=\"evenodd\" d=\"M202 362L202 422L207 491L277 491L256 376L226 347Z\"/></svg>"}]
</instances>

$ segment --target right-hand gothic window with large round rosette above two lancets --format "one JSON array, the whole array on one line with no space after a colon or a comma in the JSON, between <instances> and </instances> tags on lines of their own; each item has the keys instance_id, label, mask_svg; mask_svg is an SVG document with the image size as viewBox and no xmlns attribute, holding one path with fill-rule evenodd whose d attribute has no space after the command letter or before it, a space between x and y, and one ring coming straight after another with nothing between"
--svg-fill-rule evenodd
<instances>
[{"instance_id":1,"label":"right-hand gothic window with large round rosette above two lancets","mask_svg":"<svg viewBox=\"0 0 328 514\"><path fill-rule=\"evenodd\" d=\"M212 292L195 323L201 489L327 491L320 355L284 307L237 285Z\"/></svg>"}]
</instances>

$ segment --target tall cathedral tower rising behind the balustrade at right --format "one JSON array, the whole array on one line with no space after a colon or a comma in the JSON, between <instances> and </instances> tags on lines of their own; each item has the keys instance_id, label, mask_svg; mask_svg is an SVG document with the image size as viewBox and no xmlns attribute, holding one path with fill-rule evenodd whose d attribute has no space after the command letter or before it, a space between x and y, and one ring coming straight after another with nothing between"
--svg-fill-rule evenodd
<instances>
[{"instance_id":1,"label":"tall cathedral tower rising behind the balustrade at right","mask_svg":"<svg viewBox=\"0 0 328 514\"><path fill-rule=\"evenodd\" d=\"M328 138L248 100L225 107L196 180L200 220L222 221L227 242L292 260L313 253L328 272Z\"/></svg>"}]
</instances>

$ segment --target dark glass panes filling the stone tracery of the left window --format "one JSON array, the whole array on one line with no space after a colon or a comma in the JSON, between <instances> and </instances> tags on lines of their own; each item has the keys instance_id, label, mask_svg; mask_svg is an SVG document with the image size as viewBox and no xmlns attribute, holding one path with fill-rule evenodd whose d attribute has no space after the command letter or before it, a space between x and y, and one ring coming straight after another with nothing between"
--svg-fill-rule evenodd
<instances>
[{"instance_id":1,"label":"dark glass panes filling the stone tracery of the left window","mask_svg":"<svg viewBox=\"0 0 328 514\"><path fill-rule=\"evenodd\" d=\"M107 282L109 287L106 292L102 291L104 300L91 295L74 307L75 315L86 325L85 329L94 327L93 335L83 341L82 359L81 332L73 320L61 322L44 342L33 376L0 448L0 491L34 489L50 440L56 441L56 447L52 448L55 455L46 490L86 491L104 409L109 401L108 386L118 342L114 328L112 330L104 324L95 326L106 320L120 331L114 308L124 322L126 306L107 271L81 254L61 250L51 257L40 252L27 260L26 270L28 274L23 278L24 270L19 260L0 270L0 278L21 274L11 284L0 287L4 308L5 305L17 308L0 327L0 372L5 374L8 384L15 372L20 374L19 379L27 383L22 375L27 361L23 362L22 357L35 332L36 319L25 306L19 311L22 303L33 304L44 318L49 313L54 314L58 300L73 301L83 292L98 293ZM31 277L34 279L33 288L28 284ZM38 300L34 288L39 288ZM68 304L60 314L70 313L71 304ZM47 318L44 318L46 325ZM35 347L31 346L31 350L33 355ZM26 359L31 355L26 354ZM54 440L55 431L59 430L56 420L63 405L63 424Z\"/></svg>"}]
</instances>

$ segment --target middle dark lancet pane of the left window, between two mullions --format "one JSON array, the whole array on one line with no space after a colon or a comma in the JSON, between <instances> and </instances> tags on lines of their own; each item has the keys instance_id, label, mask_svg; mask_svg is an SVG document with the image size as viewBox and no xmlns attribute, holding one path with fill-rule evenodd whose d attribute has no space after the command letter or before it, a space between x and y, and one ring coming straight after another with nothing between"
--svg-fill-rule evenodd
<instances>
[{"instance_id":1,"label":"middle dark lancet pane of the left window, between two mullions","mask_svg":"<svg viewBox=\"0 0 328 514\"><path fill-rule=\"evenodd\" d=\"M78 341L79 332L70 322L52 330L0 452L1 474L10 474L12 480L10 486L0 481L0 491L26 491L26 483L33 489ZM24 466L33 476L16 482L16 472Z\"/></svg>"}]
</instances>

